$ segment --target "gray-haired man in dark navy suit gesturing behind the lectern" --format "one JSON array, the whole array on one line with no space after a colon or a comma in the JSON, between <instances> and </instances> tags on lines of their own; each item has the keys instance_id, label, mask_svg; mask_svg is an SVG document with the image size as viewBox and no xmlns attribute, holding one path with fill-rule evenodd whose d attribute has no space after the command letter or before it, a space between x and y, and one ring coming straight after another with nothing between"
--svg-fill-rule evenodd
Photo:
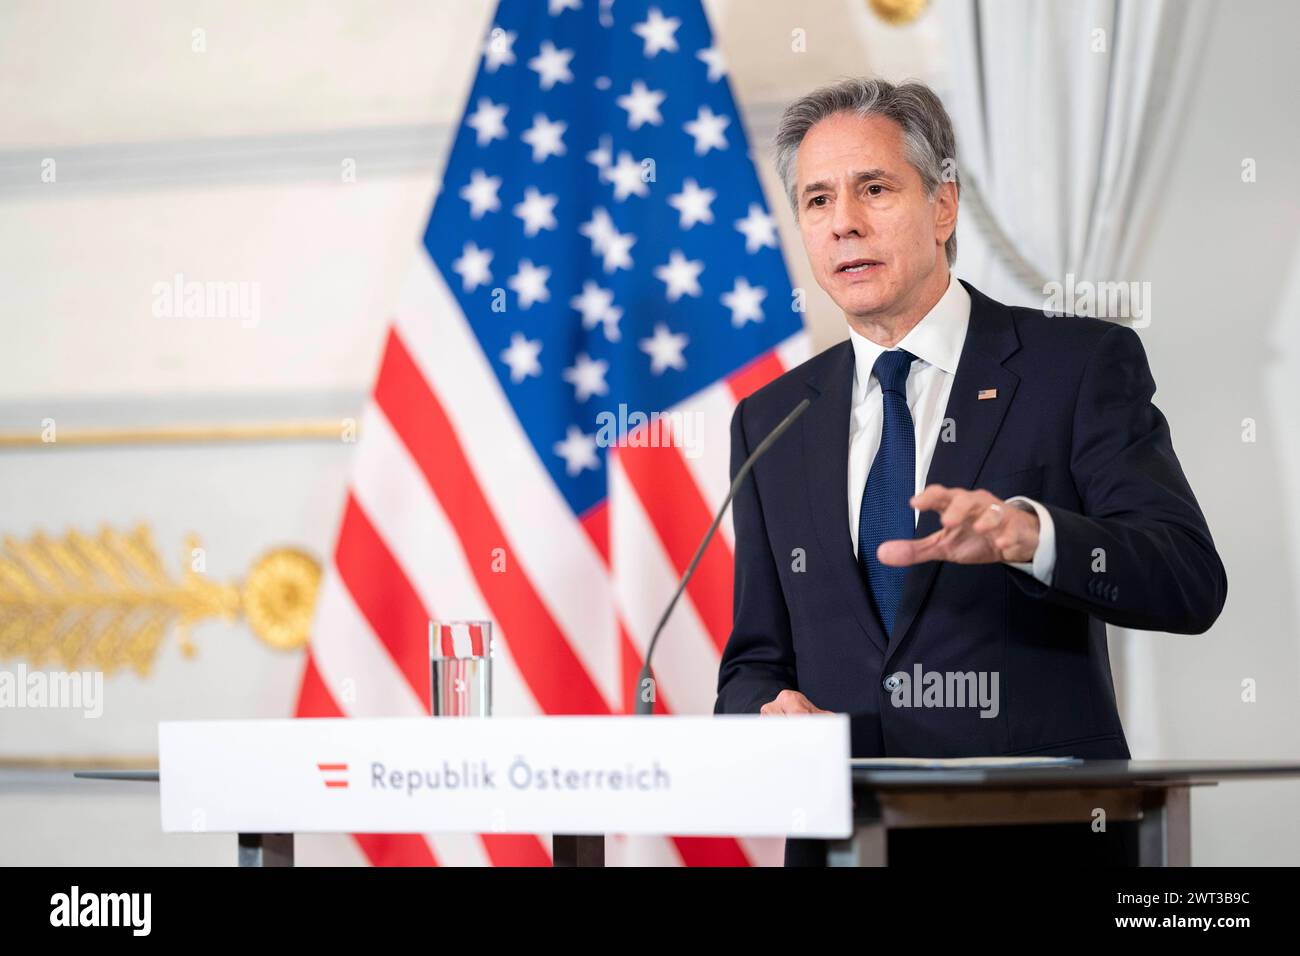
<instances>
[{"instance_id":1,"label":"gray-haired man in dark navy suit gesturing behind the lectern","mask_svg":"<svg viewBox=\"0 0 1300 956\"><path fill-rule=\"evenodd\" d=\"M1227 576L1138 334L950 274L954 155L916 83L845 81L783 117L849 341L736 408L733 472L812 402L734 499L715 713L845 713L864 757L1128 758L1105 624L1201 633Z\"/></svg>"}]
</instances>

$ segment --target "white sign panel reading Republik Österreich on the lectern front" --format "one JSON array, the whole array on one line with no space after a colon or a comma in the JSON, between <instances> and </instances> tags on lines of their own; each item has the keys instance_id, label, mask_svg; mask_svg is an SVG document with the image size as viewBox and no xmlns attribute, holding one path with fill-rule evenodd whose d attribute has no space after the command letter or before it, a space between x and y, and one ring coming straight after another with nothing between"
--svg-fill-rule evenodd
<instances>
[{"instance_id":1,"label":"white sign panel reading Republik \u00d6sterreich on the lectern front","mask_svg":"<svg viewBox=\"0 0 1300 956\"><path fill-rule=\"evenodd\" d=\"M848 836L849 722L169 721L165 832Z\"/></svg>"}]
</instances>

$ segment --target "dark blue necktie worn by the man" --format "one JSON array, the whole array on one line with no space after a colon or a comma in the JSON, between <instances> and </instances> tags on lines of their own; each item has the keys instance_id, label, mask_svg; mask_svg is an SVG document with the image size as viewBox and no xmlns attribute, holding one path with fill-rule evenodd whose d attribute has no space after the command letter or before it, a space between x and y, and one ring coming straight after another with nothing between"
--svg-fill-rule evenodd
<instances>
[{"instance_id":1,"label":"dark blue necktie worn by the man","mask_svg":"<svg viewBox=\"0 0 1300 956\"><path fill-rule=\"evenodd\" d=\"M872 368L880 382L884 418L880 450L871 463L858 511L858 561L867 571L887 640L893 631L907 568L881 564L876 549L883 541L910 538L916 532L915 515L907 503L916 493L916 433L907 411L907 372L914 358L904 349L893 349L880 352Z\"/></svg>"}]
</instances>

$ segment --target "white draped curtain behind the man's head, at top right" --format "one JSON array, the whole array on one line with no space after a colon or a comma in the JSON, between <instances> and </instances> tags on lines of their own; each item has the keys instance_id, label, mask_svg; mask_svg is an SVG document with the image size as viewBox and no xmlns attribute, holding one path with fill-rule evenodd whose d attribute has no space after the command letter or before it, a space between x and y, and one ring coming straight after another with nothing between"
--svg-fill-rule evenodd
<instances>
[{"instance_id":1,"label":"white draped curtain behind the man's head, at top right","mask_svg":"<svg viewBox=\"0 0 1300 956\"><path fill-rule=\"evenodd\" d=\"M1210 0L941 0L957 272L1004 302L1135 281Z\"/></svg>"}]
</instances>

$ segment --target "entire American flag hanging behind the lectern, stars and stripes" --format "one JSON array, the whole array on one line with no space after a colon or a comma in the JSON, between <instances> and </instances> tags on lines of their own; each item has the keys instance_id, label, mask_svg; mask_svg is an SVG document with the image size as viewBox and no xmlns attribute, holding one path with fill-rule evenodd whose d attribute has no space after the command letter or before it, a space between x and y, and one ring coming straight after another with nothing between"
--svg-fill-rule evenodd
<instances>
[{"instance_id":1,"label":"entire American flag hanging behind the lectern, stars and stripes","mask_svg":"<svg viewBox=\"0 0 1300 956\"><path fill-rule=\"evenodd\" d=\"M430 618L493 622L494 713L630 713L727 494L732 411L806 358L794 304L698 0L503 0L363 419L298 715L429 713ZM732 544L725 523L660 639L656 713L712 713ZM550 862L546 835L356 839L373 864ZM779 864L781 842L607 853Z\"/></svg>"}]
</instances>

